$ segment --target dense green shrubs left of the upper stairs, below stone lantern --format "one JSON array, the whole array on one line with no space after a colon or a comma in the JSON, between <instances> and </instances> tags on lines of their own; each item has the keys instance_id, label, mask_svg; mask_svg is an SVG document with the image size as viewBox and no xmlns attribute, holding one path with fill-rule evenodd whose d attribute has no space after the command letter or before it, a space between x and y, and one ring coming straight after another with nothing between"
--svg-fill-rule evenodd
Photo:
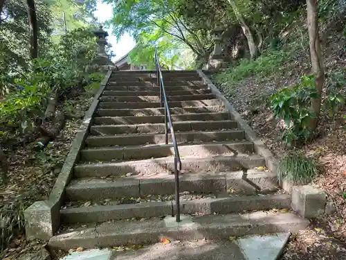
<instances>
[{"instance_id":1,"label":"dense green shrubs left of the upper stairs, below stone lantern","mask_svg":"<svg viewBox=\"0 0 346 260\"><path fill-rule=\"evenodd\" d=\"M1 132L15 135L31 132L39 119L44 118L51 93L63 95L83 81L92 84L100 80L99 74L87 76L84 72L95 50L95 39L90 31L78 29L64 35L46 57L33 60L31 71L20 73L12 80L14 91L0 103Z\"/></svg>"}]
</instances>

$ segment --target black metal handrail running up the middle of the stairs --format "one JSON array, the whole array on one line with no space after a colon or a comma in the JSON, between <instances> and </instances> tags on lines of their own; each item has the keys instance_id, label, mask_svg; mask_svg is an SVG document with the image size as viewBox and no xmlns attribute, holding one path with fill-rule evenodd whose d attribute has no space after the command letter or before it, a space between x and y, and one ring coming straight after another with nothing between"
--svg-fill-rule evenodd
<instances>
[{"instance_id":1,"label":"black metal handrail running up the middle of the stairs","mask_svg":"<svg viewBox=\"0 0 346 260\"><path fill-rule=\"evenodd\" d=\"M155 65L156 65L156 78L157 85L160 87L160 105L165 107L165 144L168 144L168 125L170 123L170 133L172 136L174 146L174 175L175 175L175 204L176 204L176 222L180 222L180 200L179 200L179 171L181 171L181 159L179 155L178 145L174 135L174 128L172 123L172 116L170 113L170 106L168 105L167 95L165 92L165 84L163 84L163 76L158 60L157 48L155 46ZM167 122L168 120L168 122Z\"/></svg>"}]
</instances>

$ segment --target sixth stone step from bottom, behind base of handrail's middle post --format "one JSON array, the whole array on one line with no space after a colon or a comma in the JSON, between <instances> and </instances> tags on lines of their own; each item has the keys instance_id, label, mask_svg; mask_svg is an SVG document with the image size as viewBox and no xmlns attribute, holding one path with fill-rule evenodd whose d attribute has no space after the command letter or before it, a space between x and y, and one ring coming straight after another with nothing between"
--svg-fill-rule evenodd
<instances>
[{"instance_id":1,"label":"sixth stone step from bottom, behind base of handrail's middle post","mask_svg":"<svg viewBox=\"0 0 346 260\"><path fill-rule=\"evenodd\" d=\"M176 132L178 144L199 141L224 141L245 139L244 130L214 131L214 132ZM87 147L102 146L131 146L140 144L165 144L165 135L139 134L139 135L107 135L89 136L86 139ZM168 142L172 143L172 137L168 135Z\"/></svg>"}]
</instances>

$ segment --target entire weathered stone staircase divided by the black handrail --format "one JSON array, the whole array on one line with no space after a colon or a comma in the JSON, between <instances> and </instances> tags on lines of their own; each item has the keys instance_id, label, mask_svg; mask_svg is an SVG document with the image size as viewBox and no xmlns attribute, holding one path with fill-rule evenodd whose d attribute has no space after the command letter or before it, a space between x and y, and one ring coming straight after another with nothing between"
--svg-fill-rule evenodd
<instances>
[{"instance_id":1,"label":"entire weathered stone staircase divided by the black handrail","mask_svg":"<svg viewBox=\"0 0 346 260\"><path fill-rule=\"evenodd\" d=\"M174 147L154 71L113 71L66 187L52 248L95 248L295 231L289 194L196 71L163 71L179 143L181 222L172 217ZM275 209L275 210L273 210Z\"/></svg>"}]
</instances>

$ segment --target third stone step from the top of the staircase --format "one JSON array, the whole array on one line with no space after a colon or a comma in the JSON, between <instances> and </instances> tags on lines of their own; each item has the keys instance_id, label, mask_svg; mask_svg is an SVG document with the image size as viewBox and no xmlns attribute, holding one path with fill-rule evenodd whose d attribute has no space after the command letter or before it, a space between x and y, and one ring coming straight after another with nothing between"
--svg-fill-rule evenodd
<instances>
[{"instance_id":1,"label":"third stone step from the top of the staircase","mask_svg":"<svg viewBox=\"0 0 346 260\"><path fill-rule=\"evenodd\" d=\"M204 83L201 80L194 80L194 81L188 81L188 80L174 80L174 81L164 81L165 87L174 87L174 86L204 86L206 83ZM158 87L156 81L109 81L109 86L143 86L143 87Z\"/></svg>"}]
</instances>

